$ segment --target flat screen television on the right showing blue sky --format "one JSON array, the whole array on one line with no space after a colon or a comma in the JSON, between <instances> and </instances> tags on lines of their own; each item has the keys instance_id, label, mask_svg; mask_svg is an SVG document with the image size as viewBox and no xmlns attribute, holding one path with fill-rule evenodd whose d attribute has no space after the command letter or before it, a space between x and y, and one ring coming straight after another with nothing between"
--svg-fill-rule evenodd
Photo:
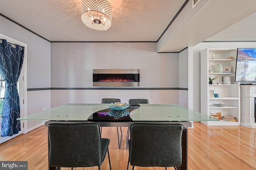
<instances>
[{"instance_id":1,"label":"flat screen television on the right showing blue sky","mask_svg":"<svg viewBox=\"0 0 256 170\"><path fill-rule=\"evenodd\" d=\"M256 83L256 48L237 49L235 81Z\"/></svg>"}]
</instances>

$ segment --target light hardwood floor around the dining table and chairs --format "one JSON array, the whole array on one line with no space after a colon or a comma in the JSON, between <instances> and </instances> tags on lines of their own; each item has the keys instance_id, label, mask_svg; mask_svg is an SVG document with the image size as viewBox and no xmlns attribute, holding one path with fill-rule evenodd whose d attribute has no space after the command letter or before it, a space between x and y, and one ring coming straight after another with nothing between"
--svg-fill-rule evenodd
<instances>
[{"instance_id":1,"label":"light hardwood floor around the dining table and chairs","mask_svg":"<svg viewBox=\"0 0 256 170\"><path fill-rule=\"evenodd\" d=\"M112 170L126 170L128 150L127 128L122 128L121 149L118 149L116 127L103 127L102 137L110 138ZM39 127L0 145L0 160L28 161L28 170L48 169L47 127ZM109 170L106 157L101 166ZM70 170L70 168L62 168ZM129 167L131 170L132 167ZM164 170L158 167L136 167L136 170ZM172 170L174 168L168 168ZM74 168L98 170L98 167ZM241 126L206 126L194 122L188 129L188 170L256 170L256 129Z\"/></svg>"}]
</instances>

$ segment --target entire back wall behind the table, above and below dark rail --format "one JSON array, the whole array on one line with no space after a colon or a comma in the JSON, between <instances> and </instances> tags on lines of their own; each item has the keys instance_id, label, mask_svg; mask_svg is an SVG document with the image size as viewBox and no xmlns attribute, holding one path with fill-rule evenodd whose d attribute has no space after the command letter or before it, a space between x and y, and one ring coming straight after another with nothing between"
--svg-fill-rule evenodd
<instances>
[{"instance_id":1,"label":"entire back wall behind the table, above and below dark rail","mask_svg":"<svg viewBox=\"0 0 256 170\"><path fill-rule=\"evenodd\" d=\"M51 43L51 87L91 88L92 69L140 69L142 88L179 87L178 53L157 53L156 43ZM178 90L52 90L51 106L110 97L179 103Z\"/></svg>"}]
</instances>

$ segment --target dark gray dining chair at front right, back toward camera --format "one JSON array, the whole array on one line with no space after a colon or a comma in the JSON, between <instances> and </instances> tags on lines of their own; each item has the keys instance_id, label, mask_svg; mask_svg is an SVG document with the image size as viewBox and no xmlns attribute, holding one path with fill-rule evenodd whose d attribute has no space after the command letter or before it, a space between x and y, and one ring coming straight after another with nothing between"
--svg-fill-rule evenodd
<instances>
[{"instance_id":1,"label":"dark gray dining chair at front right, back toward camera","mask_svg":"<svg viewBox=\"0 0 256 170\"><path fill-rule=\"evenodd\" d=\"M130 126L129 162L143 167L176 167L182 164L181 124L134 123Z\"/></svg>"}]
</instances>

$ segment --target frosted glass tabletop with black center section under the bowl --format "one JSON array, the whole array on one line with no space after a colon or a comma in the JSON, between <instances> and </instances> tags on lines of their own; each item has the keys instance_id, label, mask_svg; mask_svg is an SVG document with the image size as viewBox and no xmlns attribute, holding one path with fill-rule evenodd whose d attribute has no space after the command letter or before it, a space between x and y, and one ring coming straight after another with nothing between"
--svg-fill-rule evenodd
<instances>
[{"instance_id":1,"label":"frosted glass tabletop with black center section under the bowl","mask_svg":"<svg viewBox=\"0 0 256 170\"><path fill-rule=\"evenodd\" d=\"M103 118L102 118L103 117ZM130 105L123 111L114 111L108 104L69 103L18 118L18 120L45 121L219 121L202 113L176 104Z\"/></svg>"}]
</instances>

